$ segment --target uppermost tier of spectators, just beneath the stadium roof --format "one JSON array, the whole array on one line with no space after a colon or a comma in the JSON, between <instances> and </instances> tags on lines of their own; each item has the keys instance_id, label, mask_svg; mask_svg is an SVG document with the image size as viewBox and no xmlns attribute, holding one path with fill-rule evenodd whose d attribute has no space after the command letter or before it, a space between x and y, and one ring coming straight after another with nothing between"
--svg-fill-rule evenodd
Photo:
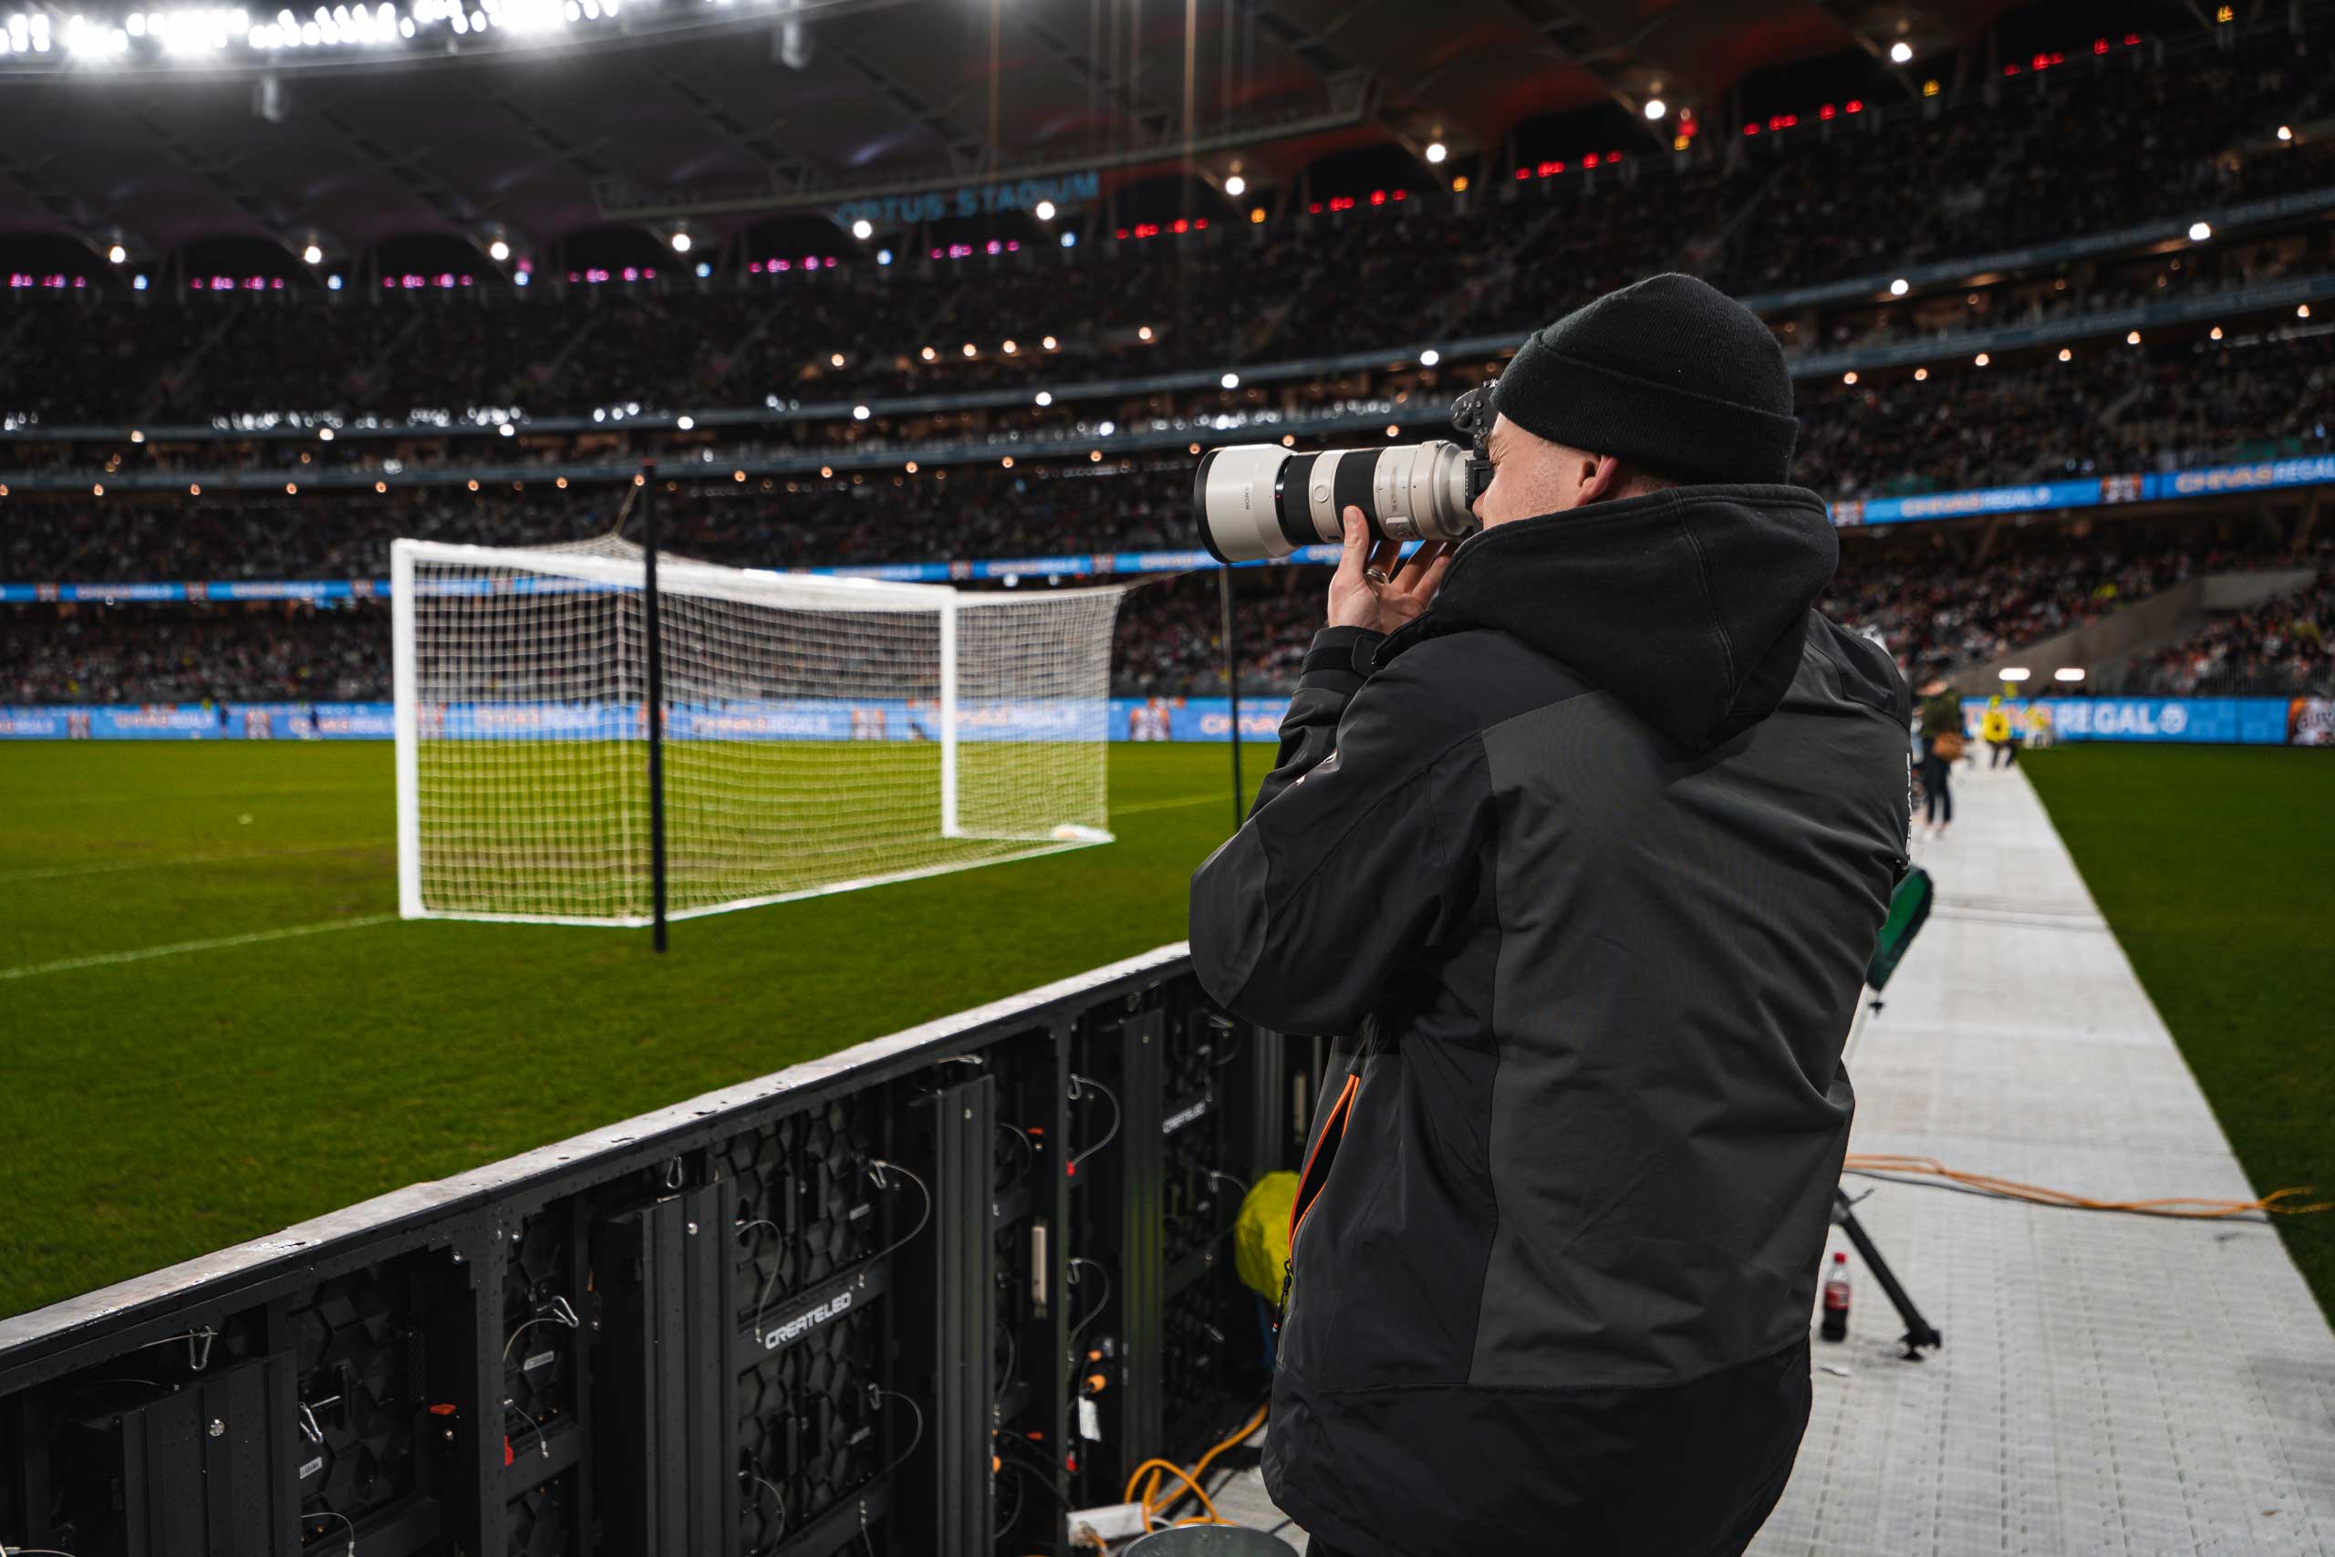
<instances>
[{"instance_id":1,"label":"uppermost tier of spectators, just beneath the stadium roof","mask_svg":"<svg viewBox=\"0 0 2335 1557\"><path fill-rule=\"evenodd\" d=\"M49 425L544 416L1245 364L1522 331L1658 268L1761 294L2335 182L2326 145L2272 138L2326 96L2281 26L2230 49L2102 42L2097 58L1952 103L1714 131L1679 156L1609 149L1562 173L1522 168L1520 182L1485 170L1459 205L1403 189L1254 224L1226 208L1184 236L1095 233L1069 252L1032 238L997 259L929 266L876 266L838 236L848 257L801 254L785 273L696 280L675 264L635 285L537 273L523 292L486 264L469 287L388 294L23 292L0 409ZM2207 259L2179 285L2221 287L2253 268ZM2132 296L2130 278L2106 275L2097 292L2092 280L2083 271L2069 296L2020 308ZM1943 322L1903 308L1870 327L1919 320Z\"/></svg>"}]
</instances>

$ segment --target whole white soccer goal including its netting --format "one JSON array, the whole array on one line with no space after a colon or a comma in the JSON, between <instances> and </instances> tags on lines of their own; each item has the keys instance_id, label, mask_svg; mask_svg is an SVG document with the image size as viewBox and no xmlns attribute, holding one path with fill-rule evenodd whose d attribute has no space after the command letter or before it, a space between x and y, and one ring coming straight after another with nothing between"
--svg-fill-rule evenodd
<instances>
[{"instance_id":1,"label":"whole white soccer goal including its netting","mask_svg":"<svg viewBox=\"0 0 2335 1557\"><path fill-rule=\"evenodd\" d=\"M637 546L397 542L404 917L647 924ZM1118 588L658 553L668 917L1109 843Z\"/></svg>"}]
</instances>

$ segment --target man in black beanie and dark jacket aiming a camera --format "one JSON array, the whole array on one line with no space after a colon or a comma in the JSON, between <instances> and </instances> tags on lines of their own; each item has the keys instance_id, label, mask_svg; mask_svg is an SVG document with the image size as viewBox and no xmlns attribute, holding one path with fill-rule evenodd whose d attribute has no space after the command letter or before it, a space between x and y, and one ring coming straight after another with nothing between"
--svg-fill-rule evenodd
<instances>
[{"instance_id":1,"label":"man in black beanie and dark jacket aiming a camera","mask_svg":"<svg viewBox=\"0 0 2335 1557\"><path fill-rule=\"evenodd\" d=\"M1331 1036L1266 1482L1315 1557L1742 1552L1807 1426L1910 693L1810 605L1768 329L1656 275L1499 378L1483 530L1371 544L1191 889Z\"/></svg>"}]
</instances>

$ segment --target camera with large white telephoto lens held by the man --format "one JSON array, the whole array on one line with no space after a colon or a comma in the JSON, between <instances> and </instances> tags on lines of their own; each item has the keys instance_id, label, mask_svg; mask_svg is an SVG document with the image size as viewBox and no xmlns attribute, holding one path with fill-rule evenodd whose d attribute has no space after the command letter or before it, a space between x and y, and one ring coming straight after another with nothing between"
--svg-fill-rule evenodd
<instances>
[{"instance_id":1,"label":"camera with large white telephoto lens held by the man","mask_svg":"<svg viewBox=\"0 0 2335 1557\"><path fill-rule=\"evenodd\" d=\"M1291 453L1280 444L1212 448L1191 483L1200 544L1219 563L1336 546L1340 514L1361 509L1378 542L1457 542L1476 532L1476 500L1492 486L1492 380L1452 402L1448 439L1387 448Z\"/></svg>"}]
</instances>

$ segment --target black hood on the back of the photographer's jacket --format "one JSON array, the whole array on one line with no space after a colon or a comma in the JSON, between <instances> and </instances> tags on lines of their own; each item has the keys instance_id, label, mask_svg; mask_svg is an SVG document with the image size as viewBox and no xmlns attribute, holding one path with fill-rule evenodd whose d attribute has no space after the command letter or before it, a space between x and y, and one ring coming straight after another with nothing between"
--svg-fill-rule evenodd
<instances>
[{"instance_id":1,"label":"black hood on the back of the photographer's jacket","mask_svg":"<svg viewBox=\"0 0 2335 1557\"><path fill-rule=\"evenodd\" d=\"M1700 752L1775 712L1838 563L1807 488L1665 488L1469 537L1434 609L1380 658L1443 633L1508 633Z\"/></svg>"}]
</instances>

